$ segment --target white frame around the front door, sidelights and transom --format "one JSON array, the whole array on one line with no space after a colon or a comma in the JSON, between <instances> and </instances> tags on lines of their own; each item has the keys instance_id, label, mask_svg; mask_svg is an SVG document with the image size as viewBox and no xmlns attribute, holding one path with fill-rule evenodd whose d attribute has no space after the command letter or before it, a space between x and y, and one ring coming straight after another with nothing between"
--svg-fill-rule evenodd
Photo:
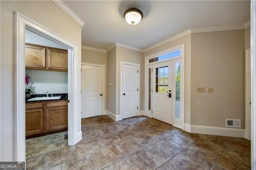
<instances>
[{"instance_id":1,"label":"white frame around the front door, sidelights and transom","mask_svg":"<svg viewBox=\"0 0 256 170\"><path fill-rule=\"evenodd\" d=\"M180 102L181 102L181 105L180 105L180 119L181 119L181 129L184 130L184 126L185 126L185 43L182 43L180 45L176 45L174 47L171 47L171 48L168 48L168 49L165 49L163 51L159 51L157 53L154 53L154 54L151 54L151 55L148 55L145 57L145 93L144 93L144 108L145 108L145 116L148 116L147 115L147 102L148 102L148 70L147 70L147 67L149 65L152 65L152 64L156 64L156 63L160 63L160 62L164 62L164 61L168 61L168 59L166 60L162 60L162 61L156 61L154 63L148 63L148 59L151 59L151 58L154 58L154 57L158 57L159 55L163 55L165 53L168 53L170 51L174 51L176 49L180 49L181 50L181 69L180 69L180 74L181 74L181 85L180 85ZM170 58L169 60L174 60L176 58L180 58L180 57L173 57L173 58ZM152 67L151 67L152 69ZM151 79L152 79L152 74L151 74ZM151 85L152 86L152 85ZM152 99L152 97L151 97ZM151 104L152 105L152 104ZM152 109L152 107L151 107ZM150 117L150 116L148 116Z\"/></svg>"}]
</instances>

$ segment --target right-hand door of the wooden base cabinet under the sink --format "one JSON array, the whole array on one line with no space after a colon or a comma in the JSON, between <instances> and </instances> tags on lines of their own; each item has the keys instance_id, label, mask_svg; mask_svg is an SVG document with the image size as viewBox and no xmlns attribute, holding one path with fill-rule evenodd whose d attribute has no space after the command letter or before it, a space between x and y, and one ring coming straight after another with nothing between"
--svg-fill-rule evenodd
<instances>
[{"instance_id":1,"label":"right-hand door of the wooden base cabinet under the sink","mask_svg":"<svg viewBox=\"0 0 256 170\"><path fill-rule=\"evenodd\" d=\"M46 130L68 127L68 107L49 107L46 109Z\"/></svg>"}]
</instances>

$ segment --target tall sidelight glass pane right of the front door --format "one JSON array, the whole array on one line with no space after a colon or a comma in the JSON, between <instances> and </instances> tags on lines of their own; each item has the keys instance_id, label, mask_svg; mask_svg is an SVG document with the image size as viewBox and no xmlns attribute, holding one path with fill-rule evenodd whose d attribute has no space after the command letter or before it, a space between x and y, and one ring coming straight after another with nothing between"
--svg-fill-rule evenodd
<instances>
[{"instance_id":1,"label":"tall sidelight glass pane right of the front door","mask_svg":"<svg viewBox=\"0 0 256 170\"><path fill-rule=\"evenodd\" d=\"M176 70L176 113L175 117L180 119L180 62L177 62L175 65Z\"/></svg>"}]
</instances>

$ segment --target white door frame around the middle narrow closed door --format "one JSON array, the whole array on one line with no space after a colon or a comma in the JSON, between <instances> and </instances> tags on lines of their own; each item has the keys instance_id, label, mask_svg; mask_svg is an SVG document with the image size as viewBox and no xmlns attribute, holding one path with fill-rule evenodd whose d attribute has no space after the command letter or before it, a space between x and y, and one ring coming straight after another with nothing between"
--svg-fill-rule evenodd
<instances>
[{"instance_id":1,"label":"white door frame around the middle narrow closed door","mask_svg":"<svg viewBox=\"0 0 256 170\"><path fill-rule=\"evenodd\" d=\"M138 66L138 113L140 113L140 64L139 63L131 63L128 61L121 61L121 73L120 73L120 121L123 120L123 64L128 64L128 65L135 65Z\"/></svg>"}]
</instances>

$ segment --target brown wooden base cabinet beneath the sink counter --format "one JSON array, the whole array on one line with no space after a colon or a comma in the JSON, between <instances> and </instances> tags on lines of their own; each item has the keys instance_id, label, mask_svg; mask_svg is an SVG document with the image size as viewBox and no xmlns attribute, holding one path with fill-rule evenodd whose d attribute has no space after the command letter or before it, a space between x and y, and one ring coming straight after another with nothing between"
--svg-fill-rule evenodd
<instances>
[{"instance_id":1,"label":"brown wooden base cabinet beneath the sink counter","mask_svg":"<svg viewBox=\"0 0 256 170\"><path fill-rule=\"evenodd\" d=\"M26 103L26 136L68 127L68 101Z\"/></svg>"}]
</instances>

